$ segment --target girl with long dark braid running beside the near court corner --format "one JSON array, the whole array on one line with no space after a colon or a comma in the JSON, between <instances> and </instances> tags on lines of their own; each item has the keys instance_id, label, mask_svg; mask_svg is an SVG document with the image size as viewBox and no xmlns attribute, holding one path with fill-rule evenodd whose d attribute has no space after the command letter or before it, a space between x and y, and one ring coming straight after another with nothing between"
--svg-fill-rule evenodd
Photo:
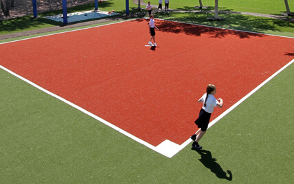
<instances>
[{"instance_id":1,"label":"girl with long dark braid running beside the near court corner","mask_svg":"<svg viewBox=\"0 0 294 184\"><path fill-rule=\"evenodd\" d=\"M208 123L210 122L210 116L214 111L214 107L223 107L223 99L216 98L214 95L216 94L216 86L213 84L209 84L206 88L206 93L199 99L199 103L203 103L203 106L199 112L199 117L195 120L195 124L200 128L194 135L190 138L194 140L192 147L196 149L201 149L202 146L198 144L201 137L206 133Z\"/></svg>"}]
</instances>

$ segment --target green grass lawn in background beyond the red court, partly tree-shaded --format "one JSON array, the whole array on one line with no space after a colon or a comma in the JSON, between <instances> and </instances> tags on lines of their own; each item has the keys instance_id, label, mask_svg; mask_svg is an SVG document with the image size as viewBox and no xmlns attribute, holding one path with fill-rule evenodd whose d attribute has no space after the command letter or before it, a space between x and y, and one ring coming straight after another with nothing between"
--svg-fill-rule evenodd
<instances>
[{"instance_id":1,"label":"green grass lawn in background beyond the red court, partly tree-shaded","mask_svg":"<svg viewBox=\"0 0 294 184\"><path fill-rule=\"evenodd\" d=\"M158 1L151 1L152 4L157 5ZM170 8L172 9L180 9L180 10L195 10L194 6L199 5L197 4L199 1L180 1L180 0L174 0L170 1ZM210 10L214 9L214 1L208 0L203 1L203 5L210 6ZM289 1L290 8L294 8L294 2ZM130 9L135 8L137 5L133 3L133 1L130 1ZM143 7L143 6L142 6ZM87 4L87 5L81 5L74 8L68 8L68 13L72 12L82 12L87 10L93 10L94 4ZM126 9L125 1L118 1L118 0L109 0L109 1L103 1L102 3L99 3L99 10L107 11L115 10L115 12L121 12L124 13ZM281 12L286 12L286 8L284 5L284 1L258 1L258 0L249 0L245 2L232 2L232 1L221 1L219 2L219 10L225 10L225 11L236 11L236 12L255 12L255 13L263 13L263 14L280 14ZM290 9L291 10L291 9ZM131 11L133 12L133 11ZM9 33L15 33L19 31L29 31L32 29L41 29L45 27L53 27L56 25L60 25L60 23L57 23L56 21L50 21L47 18L42 18L43 16L50 16L50 15L56 15L56 14L62 14L62 10L52 11L52 12L45 12L43 14L38 14L38 16L41 16L41 18L32 19L30 16L23 16L20 18L13 18L9 20L2 21L2 25L0 27L0 35L1 34L9 34ZM293 23L289 21L279 21L273 18L260 18L256 16L243 16L240 14L220 14L221 17L227 18L225 21L222 21L222 23L215 23L214 21L207 21L206 18L213 16L213 14L207 14L207 13L173 13L171 15L163 15L160 14L156 16L155 18L175 18L174 20L177 20L179 17L185 17L187 21L190 23L198 23L203 25L219 25L221 27L222 24L225 25L232 25L231 27L234 29L234 25L237 26L239 30L245 31L255 31L256 27L261 27L262 30L269 30L269 34L271 34L271 28L273 27L273 31L281 31L281 32L291 32L294 29ZM251 21L253 24L251 24ZM262 21L261 25L258 25L258 22ZM249 22L249 23L248 23ZM230 28L230 27L227 27ZM230 29L232 29L230 28ZM275 34L275 32L273 32Z\"/></svg>"}]
</instances>

